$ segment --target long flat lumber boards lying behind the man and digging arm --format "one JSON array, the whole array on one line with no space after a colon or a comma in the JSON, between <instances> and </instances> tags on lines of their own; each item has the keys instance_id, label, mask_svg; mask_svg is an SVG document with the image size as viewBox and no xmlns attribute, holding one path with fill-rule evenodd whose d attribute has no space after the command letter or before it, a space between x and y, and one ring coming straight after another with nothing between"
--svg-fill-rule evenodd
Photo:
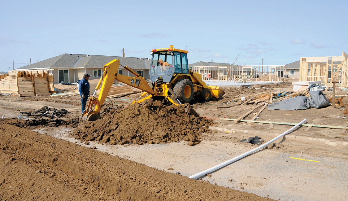
<instances>
[{"instance_id":1,"label":"long flat lumber boards lying behind the man and digging arm","mask_svg":"<svg viewBox=\"0 0 348 201\"><path fill-rule=\"evenodd\" d=\"M93 93L93 88L90 87L90 92ZM100 90L97 91L96 95L98 95L100 92ZM141 92L141 90L131 87L129 85L115 85L112 86L109 90L108 95L106 96L106 99L109 98L116 98L119 96L123 96L123 95L128 95L128 94L133 94L133 93L138 93ZM79 90L73 90L73 91L68 91L68 92L64 92L64 93L57 93L57 94L53 94L52 96L62 96L62 97L70 97L70 96L75 96L75 95L79 95ZM92 94L91 94L92 95Z\"/></svg>"}]
</instances>

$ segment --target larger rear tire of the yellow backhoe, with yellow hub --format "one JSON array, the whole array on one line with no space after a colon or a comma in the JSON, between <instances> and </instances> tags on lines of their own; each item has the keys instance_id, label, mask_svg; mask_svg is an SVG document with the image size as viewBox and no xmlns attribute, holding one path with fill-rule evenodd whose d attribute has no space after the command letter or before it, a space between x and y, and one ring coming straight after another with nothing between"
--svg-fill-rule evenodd
<instances>
[{"instance_id":1,"label":"larger rear tire of the yellow backhoe, with yellow hub","mask_svg":"<svg viewBox=\"0 0 348 201\"><path fill-rule=\"evenodd\" d=\"M194 94L193 83L188 79L181 79L175 83L173 91L177 98L182 100L184 103L189 103Z\"/></svg>"}]
</instances>

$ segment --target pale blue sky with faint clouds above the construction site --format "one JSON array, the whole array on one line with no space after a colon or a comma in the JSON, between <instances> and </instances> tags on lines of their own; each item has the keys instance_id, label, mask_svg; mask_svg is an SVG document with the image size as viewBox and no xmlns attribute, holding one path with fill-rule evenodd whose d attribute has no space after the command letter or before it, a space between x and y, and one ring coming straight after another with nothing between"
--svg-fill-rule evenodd
<instances>
[{"instance_id":1,"label":"pale blue sky with faint clouds above the construction site","mask_svg":"<svg viewBox=\"0 0 348 201\"><path fill-rule=\"evenodd\" d=\"M348 52L348 1L1 1L0 72L64 53L283 65Z\"/></svg>"}]
</instances>

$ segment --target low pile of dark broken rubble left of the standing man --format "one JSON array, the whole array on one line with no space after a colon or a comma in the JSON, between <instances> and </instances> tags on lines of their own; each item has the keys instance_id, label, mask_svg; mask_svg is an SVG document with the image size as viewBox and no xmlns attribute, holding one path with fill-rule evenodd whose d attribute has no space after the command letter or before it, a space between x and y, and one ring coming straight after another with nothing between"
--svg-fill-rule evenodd
<instances>
[{"instance_id":1,"label":"low pile of dark broken rubble left of the standing man","mask_svg":"<svg viewBox=\"0 0 348 201\"><path fill-rule=\"evenodd\" d=\"M42 117L49 117L49 118L59 118L62 116L65 116L68 114L68 110L61 108L49 108L47 106L44 106L38 110L31 112L21 112L21 114L24 114L24 117L32 117L32 118L42 118Z\"/></svg>"}]
</instances>

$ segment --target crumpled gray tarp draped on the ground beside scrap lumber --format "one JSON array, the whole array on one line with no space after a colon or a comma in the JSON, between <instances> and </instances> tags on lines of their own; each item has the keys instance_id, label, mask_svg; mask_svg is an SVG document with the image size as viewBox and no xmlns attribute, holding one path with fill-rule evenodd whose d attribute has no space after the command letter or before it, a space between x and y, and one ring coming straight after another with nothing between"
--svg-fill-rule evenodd
<instances>
[{"instance_id":1,"label":"crumpled gray tarp draped on the ground beside scrap lumber","mask_svg":"<svg viewBox=\"0 0 348 201\"><path fill-rule=\"evenodd\" d=\"M297 110L308 109L310 107L321 108L331 105L330 100L325 97L322 91L309 91L309 95L311 98L296 96L269 104L268 110Z\"/></svg>"}]
</instances>

